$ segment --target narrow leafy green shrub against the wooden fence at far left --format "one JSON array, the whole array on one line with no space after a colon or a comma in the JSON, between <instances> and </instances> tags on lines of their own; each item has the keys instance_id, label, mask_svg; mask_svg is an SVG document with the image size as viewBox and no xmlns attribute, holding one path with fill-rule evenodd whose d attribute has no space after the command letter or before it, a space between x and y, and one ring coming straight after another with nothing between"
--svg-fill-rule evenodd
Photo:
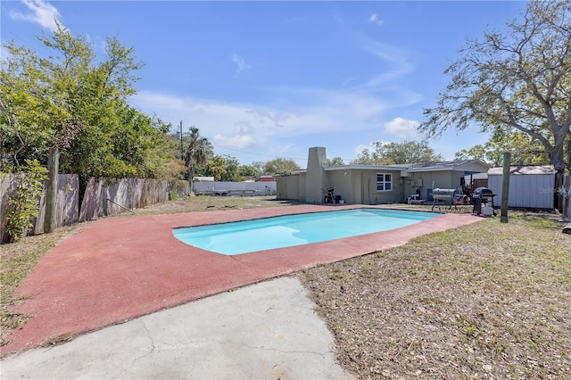
<instances>
[{"instance_id":1,"label":"narrow leafy green shrub against the wooden fence at far left","mask_svg":"<svg viewBox=\"0 0 571 380\"><path fill-rule=\"evenodd\" d=\"M6 232L10 240L16 242L26 235L33 226L31 219L39 214L38 202L42 195L42 185L47 179L47 169L37 161L26 160L16 180L16 190L8 198L6 208Z\"/></svg>"}]
</instances>

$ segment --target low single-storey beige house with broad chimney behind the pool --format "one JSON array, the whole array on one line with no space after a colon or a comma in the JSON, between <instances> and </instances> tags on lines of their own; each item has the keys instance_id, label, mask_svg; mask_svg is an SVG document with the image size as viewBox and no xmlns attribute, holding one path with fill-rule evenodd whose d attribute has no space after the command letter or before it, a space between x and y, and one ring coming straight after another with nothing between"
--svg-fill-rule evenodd
<instances>
[{"instance_id":1,"label":"low single-storey beige house with broad chimney behind the pool","mask_svg":"<svg viewBox=\"0 0 571 380\"><path fill-rule=\"evenodd\" d=\"M317 146L310 148L307 169L277 178L277 198L322 203L334 187L337 196L352 204L405 202L411 194L430 201L433 188L462 188L465 175L489 168L479 160L327 167L326 149Z\"/></svg>"}]
</instances>

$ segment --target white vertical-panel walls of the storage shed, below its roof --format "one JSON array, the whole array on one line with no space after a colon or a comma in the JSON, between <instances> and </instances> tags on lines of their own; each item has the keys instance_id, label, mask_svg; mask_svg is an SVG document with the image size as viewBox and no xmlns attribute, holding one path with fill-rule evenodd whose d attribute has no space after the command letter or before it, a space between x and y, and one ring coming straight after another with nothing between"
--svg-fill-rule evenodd
<instances>
[{"instance_id":1,"label":"white vertical-panel walls of the storage shed, below its roof","mask_svg":"<svg viewBox=\"0 0 571 380\"><path fill-rule=\"evenodd\" d=\"M503 176L488 175L488 188L498 194L494 200L501 204ZM508 206L531 209L553 209L553 186L555 175L509 176Z\"/></svg>"}]
</instances>

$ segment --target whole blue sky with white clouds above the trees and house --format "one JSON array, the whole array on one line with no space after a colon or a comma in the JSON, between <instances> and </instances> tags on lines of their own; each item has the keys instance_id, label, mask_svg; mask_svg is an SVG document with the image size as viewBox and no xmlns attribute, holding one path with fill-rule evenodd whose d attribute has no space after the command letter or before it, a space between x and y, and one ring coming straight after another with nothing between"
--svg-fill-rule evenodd
<instances>
[{"instance_id":1,"label":"whole blue sky with white clouds above the trees and house","mask_svg":"<svg viewBox=\"0 0 571 380\"><path fill-rule=\"evenodd\" d=\"M145 67L130 103L178 128L194 126L216 154L242 164L308 149L348 161L373 142L421 141L423 109L467 38L503 29L518 1L5 1L1 39L44 51L54 20L133 47ZM4 56L5 50L2 50ZM428 140L452 160L483 144L477 126Z\"/></svg>"}]
</instances>

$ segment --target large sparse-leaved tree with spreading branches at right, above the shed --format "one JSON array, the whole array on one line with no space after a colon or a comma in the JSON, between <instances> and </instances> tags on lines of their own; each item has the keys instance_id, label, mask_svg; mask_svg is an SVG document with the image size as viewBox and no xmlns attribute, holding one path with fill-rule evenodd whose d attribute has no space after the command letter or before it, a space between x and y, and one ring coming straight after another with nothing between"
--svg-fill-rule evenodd
<instances>
[{"instance_id":1,"label":"large sparse-leaved tree with spreading branches at right, above the shed","mask_svg":"<svg viewBox=\"0 0 571 380\"><path fill-rule=\"evenodd\" d=\"M517 130L539 141L562 172L571 138L571 2L532 1L522 18L506 33L468 40L419 130L434 136L471 123L484 132Z\"/></svg>"}]
</instances>

